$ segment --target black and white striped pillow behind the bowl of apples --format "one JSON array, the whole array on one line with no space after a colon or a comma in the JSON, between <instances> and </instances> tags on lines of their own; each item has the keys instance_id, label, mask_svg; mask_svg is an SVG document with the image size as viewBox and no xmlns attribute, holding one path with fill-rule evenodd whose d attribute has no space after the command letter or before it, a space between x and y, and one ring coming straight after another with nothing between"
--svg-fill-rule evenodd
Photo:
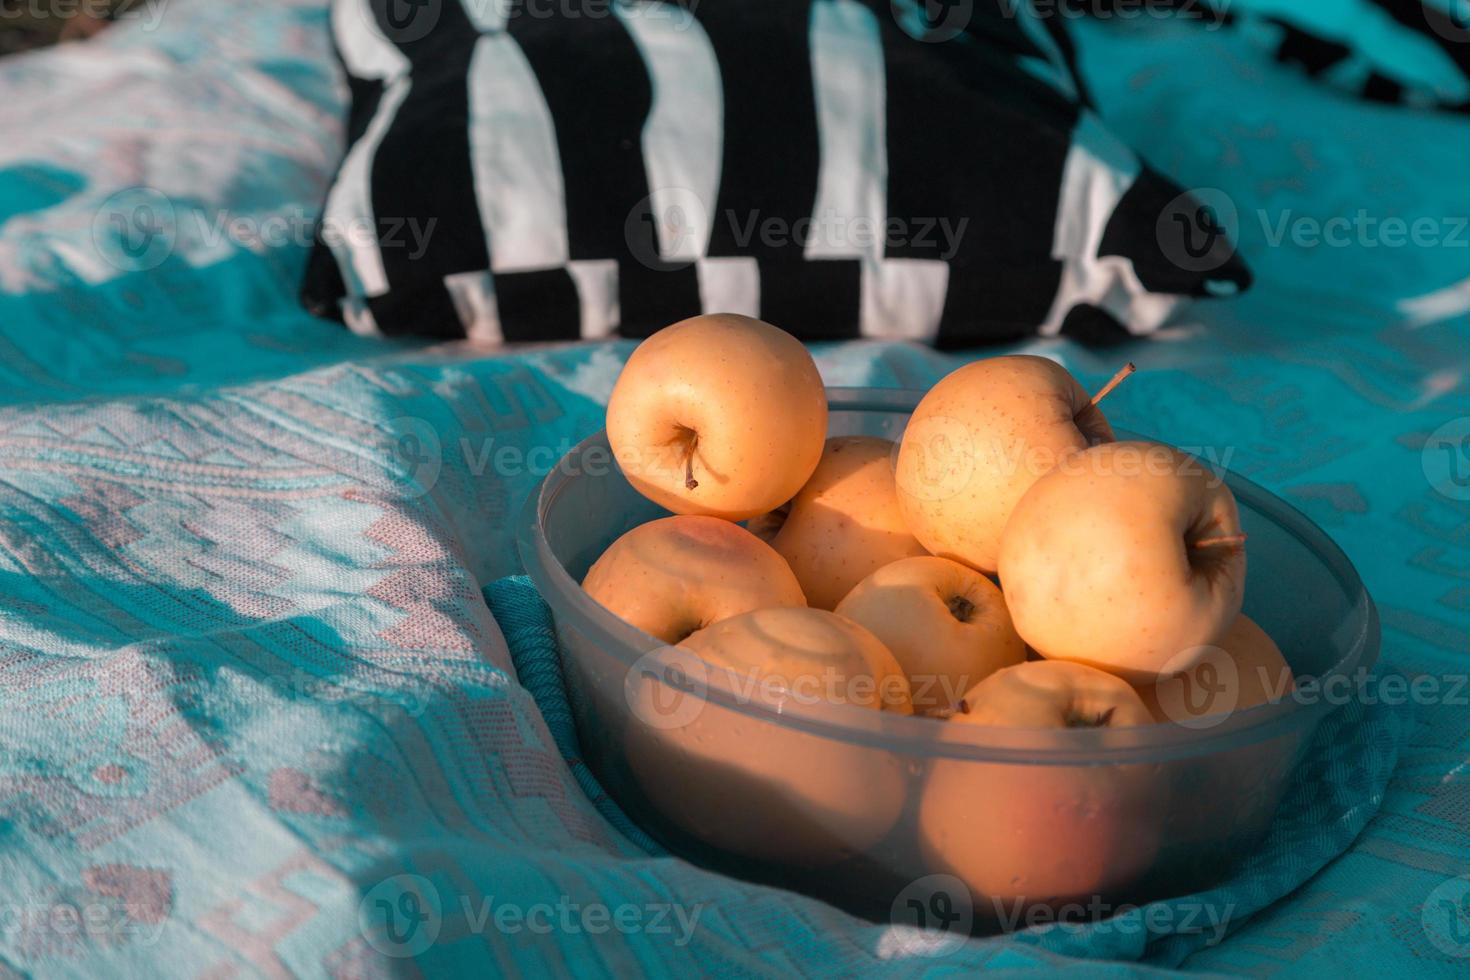
<instances>
[{"instance_id":1,"label":"black and white striped pillow behind the bowl of apples","mask_svg":"<svg viewBox=\"0 0 1470 980\"><path fill-rule=\"evenodd\" d=\"M356 331L1105 338L1248 282L1025 0L334 0L332 29L351 147L304 298Z\"/></svg>"}]
</instances>

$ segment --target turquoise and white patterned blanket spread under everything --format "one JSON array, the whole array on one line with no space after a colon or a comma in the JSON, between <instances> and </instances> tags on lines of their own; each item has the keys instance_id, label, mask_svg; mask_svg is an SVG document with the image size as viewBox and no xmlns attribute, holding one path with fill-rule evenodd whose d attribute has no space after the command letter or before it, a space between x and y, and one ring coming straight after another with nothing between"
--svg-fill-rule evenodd
<instances>
[{"instance_id":1,"label":"turquoise and white patterned blanket spread under everything","mask_svg":"<svg viewBox=\"0 0 1470 980\"><path fill-rule=\"evenodd\" d=\"M517 508L600 428L629 345L392 345L297 309L343 137L325 16L144 4L0 62L0 976L1151 973L979 940L904 955L598 814L481 586L517 572ZM1177 965L1464 976L1470 123L1344 98L1223 32L1079 31L1104 115L1232 201L1258 285L1147 345L1017 350L1086 383L1135 360L1111 417L1308 513L1377 599L1383 660L1427 679L1352 848ZM1389 217L1423 219L1419 244ZM833 385L960 363L817 359ZM432 951L385 952L378 902L432 912Z\"/></svg>"}]
</instances>

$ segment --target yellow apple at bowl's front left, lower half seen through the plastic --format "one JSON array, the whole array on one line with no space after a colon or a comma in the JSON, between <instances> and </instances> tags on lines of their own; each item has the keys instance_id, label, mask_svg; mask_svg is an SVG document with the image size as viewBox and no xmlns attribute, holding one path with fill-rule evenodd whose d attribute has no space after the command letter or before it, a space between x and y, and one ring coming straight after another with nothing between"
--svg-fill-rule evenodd
<instances>
[{"instance_id":1,"label":"yellow apple at bowl's front left, lower half seen through the plastic","mask_svg":"<svg viewBox=\"0 0 1470 980\"><path fill-rule=\"evenodd\" d=\"M892 654L823 610L745 613L672 652L698 657L707 673L698 664L684 664L684 673L741 704L784 714L832 704L910 713ZM659 815L684 833L729 854L810 868L863 854L898 821L908 776L897 755L713 698L660 716L656 705L669 695L656 685L641 679L631 689L628 764Z\"/></svg>"}]
</instances>

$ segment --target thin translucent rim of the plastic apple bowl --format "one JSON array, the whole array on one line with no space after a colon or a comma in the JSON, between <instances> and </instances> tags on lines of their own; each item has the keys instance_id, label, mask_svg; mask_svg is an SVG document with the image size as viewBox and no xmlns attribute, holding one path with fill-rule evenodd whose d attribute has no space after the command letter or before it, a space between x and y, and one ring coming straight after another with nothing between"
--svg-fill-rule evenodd
<instances>
[{"instance_id":1,"label":"thin translucent rim of the plastic apple bowl","mask_svg":"<svg viewBox=\"0 0 1470 980\"><path fill-rule=\"evenodd\" d=\"M923 391L908 388L828 388L831 411L911 413ZM1120 439L1151 439L1126 429L1116 430ZM576 479L576 467L564 466L572 457L589 448L607 450L607 430L578 442L538 483L520 508L516 542L526 573L535 583L557 629L563 616L573 614L575 629L587 635L600 649L632 669L647 666L670 648L656 636L629 626L592 599L578 580L562 566L547 541L544 517L556 498ZM610 450L607 458L612 460ZM1200 457L1195 457L1200 458ZM1326 689L1332 677L1351 676L1370 669L1379 655L1380 627L1377 608L1364 588L1357 569L1332 538L1310 517L1258 483L1227 469L1200 460L1220 473L1236 500L1264 514L1316 554L1349 597L1354 611L1361 610L1361 623L1351 639L1348 652L1316 680ZM566 657L559 641L559 655ZM1307 677L1307 674L1299 674ZM1301 685L1298 685L1299 688ZM856 705L775 705L759 699L739 698L719 683L685 688L694 696L726 710L782 727L806 732L847 743L863 743L894 752L963 758L986 763L1025 763L1078 765L1160 763L1170 758L1207 755L1266 739L1305 730L1332 713L1338 704L1317 696L1302 702L1285 698L1244 711L1230 713L1225 720L1197 727L1179 724L1147 724L1110 729L1025 729L975 724L945 724L941 720L900 716Z\"/></svg>"}]
</instances>

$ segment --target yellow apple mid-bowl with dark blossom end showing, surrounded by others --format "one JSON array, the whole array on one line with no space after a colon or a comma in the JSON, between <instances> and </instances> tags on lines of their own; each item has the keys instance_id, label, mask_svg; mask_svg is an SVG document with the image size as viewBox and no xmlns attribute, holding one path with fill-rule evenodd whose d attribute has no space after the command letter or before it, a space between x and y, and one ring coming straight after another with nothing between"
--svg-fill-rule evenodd
<instances>
[{"instance_id":1,"label":"yellow apple mid-bowl with dark blossom end showing, surrounded by others","mask_svg":"<svg viewBox=\"0 0 1470 980\"><path fill-rule=\"evenodd\" d=\"M1026 658L1001 591L948 558L885 564L838 602L836 614L892 651L920 714L953 708L980 680Z\"/></svg>"}]
</instances>

